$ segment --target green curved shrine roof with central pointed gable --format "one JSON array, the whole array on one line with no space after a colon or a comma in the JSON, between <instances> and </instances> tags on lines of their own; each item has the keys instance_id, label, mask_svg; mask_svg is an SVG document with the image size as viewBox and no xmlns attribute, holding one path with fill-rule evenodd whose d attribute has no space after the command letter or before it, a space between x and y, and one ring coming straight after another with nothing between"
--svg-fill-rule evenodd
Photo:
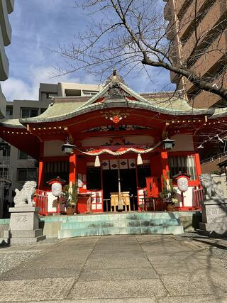
<instances>
[{"instance_id":1,"label":"green curved shrine roof with central pointed gable","mask_svg":"<svg viewBox=\"0 0 227 303\"><path fill-rule=\"evenodd\" d=\"M116 89L116 91L115 91ZM166 95L166 97L165 97ZM170 94L171 96L172 94ZM96 102L104 97L103 102ZM131 100L128 97L133 97ZM182 97L168 97L167 93L138 94L126 86L119 78L112 77L106 86L93 97L58 97L53 104L40 116L19 120L2 121L1 125L23 127L26 123L45 123L63 121L91 111L106 108L145 109L172 116L207 115L209 119L227 116L227 108L223 109L193 109Z\"/></svg>"}]
</instances>

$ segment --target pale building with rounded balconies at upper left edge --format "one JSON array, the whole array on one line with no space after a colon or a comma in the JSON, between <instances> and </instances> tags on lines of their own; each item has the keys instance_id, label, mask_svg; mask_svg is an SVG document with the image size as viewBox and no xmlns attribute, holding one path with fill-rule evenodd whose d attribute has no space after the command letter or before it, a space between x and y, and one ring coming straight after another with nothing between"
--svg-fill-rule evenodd
<instances>
[{"instance_id":1,"label":"pale building with rounded balconies at upper left edge","mask_svg":"<svg viewBox=\"0 0 227 303\"><path fill-rule=\"evenodd\" d=\"M14 0L0 0L0 81L8 79L9 60L6 57L5 47L11 43L11 26L9 13L13 11ZM0 85L0 119L6 111L6 98L1 92Z\"/></svg>"}]
</instances>

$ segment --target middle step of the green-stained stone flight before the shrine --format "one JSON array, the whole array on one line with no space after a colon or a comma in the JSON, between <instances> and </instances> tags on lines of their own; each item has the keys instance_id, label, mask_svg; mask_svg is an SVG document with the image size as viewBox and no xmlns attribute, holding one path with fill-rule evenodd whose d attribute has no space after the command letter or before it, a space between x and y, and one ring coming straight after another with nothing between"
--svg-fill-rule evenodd
<instances>
[{"instance_id":1,"label":"middle step of the green-stained stone flight before the shrine","mask_svg":"<svg viewBox=\"0 0 227 303\"><path fill-rule=\"evenodd\" d=\"M120 218L121 219L121 218ZM70 221L61 224L61 229L108 228L130 226L177 226L179 219L114 220L114 221Z\"/></svg>"}]
</instances>

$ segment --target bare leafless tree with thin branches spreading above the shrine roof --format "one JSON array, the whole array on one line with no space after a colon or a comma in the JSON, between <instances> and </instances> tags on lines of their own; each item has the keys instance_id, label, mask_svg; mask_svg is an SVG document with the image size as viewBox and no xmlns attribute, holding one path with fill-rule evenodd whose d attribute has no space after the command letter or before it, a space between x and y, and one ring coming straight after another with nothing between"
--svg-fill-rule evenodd
<instances>
[{"instance_id":1,"label":"bare leafless tree with thin branches spreading above the shrine roof","mask_svg":"<svg viewBox=\"0 0 227 303\"><path fill-rule=\"evenodd\" d=\"M192 48L179 53L179 48L182 49L178 35L182 30L179 28L179 20L172 16L170 23L166 22L159 1L79 0L77 6L90 14L92 23L87 31L75 37L74 42L67 46L60 45L57 53L72 61L68 62L67 70L59 71L68 73L84 69L106 76L106 72L109 73L113 67L123 70L125 74L135 69L162 67L178 75L177 88L181 88L182 79L186 78L198 89L226 100L224 78L218 79L217 84L218 75L201 75L194 68L202 64L201 57L206 59L212 53L221 53L221 62L223 66L226 65L226 44L221 47L220 43L223 29L226 28L226 18L214 28L200 28L206 11L199 13L197 0L192 0L194 11L188 20L184 20L184 26L190 23L190 35L185 39L192 39Z\"/></svg>"}]
</instances>

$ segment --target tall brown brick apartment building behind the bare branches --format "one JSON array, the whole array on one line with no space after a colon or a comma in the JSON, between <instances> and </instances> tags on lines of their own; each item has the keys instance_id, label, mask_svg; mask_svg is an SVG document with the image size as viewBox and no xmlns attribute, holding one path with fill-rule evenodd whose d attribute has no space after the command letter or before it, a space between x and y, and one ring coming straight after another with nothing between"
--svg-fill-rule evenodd
<instances>
[{"instance_id":1,"label":"tall brown brick apartment building behind the bare branches","mask_svg":"<svg viewBox=\"0 0 227 303\"><path fill-rule=\"evenodd\" d=\"M186 64L196 75L209 79L217 87L226 83L226 0L164 0L167 38L171 41L172 60ZM196 22L195 22L196 20ZM171 82L179 77L171 73ZM221 97L205 92L182 79L190 105L196 108L220 107Z\"/></svg>"}]
</instances>

